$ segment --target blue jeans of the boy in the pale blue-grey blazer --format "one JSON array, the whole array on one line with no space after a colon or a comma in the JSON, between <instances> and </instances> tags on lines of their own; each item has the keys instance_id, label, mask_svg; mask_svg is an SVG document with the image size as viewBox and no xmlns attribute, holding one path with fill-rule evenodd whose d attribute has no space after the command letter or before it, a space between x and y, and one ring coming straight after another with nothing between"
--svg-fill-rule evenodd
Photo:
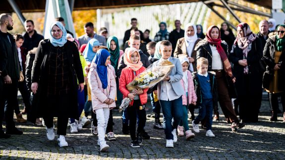
<instances>
[{"instance_id":1,"label":"blue jeans of the boy in the pale blue-grey blazer","mask_svg":"<svg viewBox=\"0 0 285 160\"><path fill-rule=\"evenodd\" d=\"M170 139L173 140L173 135L171 131L177 128L183 115L182 96L172 101L159 100L159 102L163 112L163 127L164 127L165 137L167 140Z\"/></svg>"}]
</instances>

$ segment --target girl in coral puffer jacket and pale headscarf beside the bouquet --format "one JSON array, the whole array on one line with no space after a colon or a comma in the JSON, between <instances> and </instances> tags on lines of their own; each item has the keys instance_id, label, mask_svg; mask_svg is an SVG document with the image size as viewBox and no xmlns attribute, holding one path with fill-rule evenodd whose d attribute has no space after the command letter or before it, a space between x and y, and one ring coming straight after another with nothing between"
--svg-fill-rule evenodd
<instances>
[{"instance_id":1,"label":"girl in coral puffer jacket and pale headscarf beside the bouquet","mask_svg":"<svg viewBox=\"0 0 285 160\"><path fill-rule=\"evenodd\" d=\"M138 148L142 144L142 131L146 123L145 104L147 102L147 90L135 89L132 93L127 90L126 85L130 83L137 75L145 70L140 61L140 54L136 48L126 48L124 53L124 63L127 65L122 69L119 79L119 90L123 98L129 97L132 101L127 108L129 116L129 130L131 136L131 147ZM137 118L139 119L136 130Z\"/></svg>"}]
</instances>

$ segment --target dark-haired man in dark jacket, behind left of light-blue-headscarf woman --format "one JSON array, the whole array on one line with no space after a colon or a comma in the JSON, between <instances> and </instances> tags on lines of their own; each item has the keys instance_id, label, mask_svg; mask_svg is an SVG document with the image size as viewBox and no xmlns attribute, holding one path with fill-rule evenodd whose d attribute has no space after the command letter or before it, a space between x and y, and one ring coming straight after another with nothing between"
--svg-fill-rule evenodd
<instances>
[{"instance_id":1,"label":"dark-haired man in dark jacket, behind left of light-blue-headscarf woman","mask_svg":"<svg viewBox=\"0 0 285 160\"><path fill-rule=\"evenodd\" d=\"M22 47L26 48L26 51L28 52L29 50L32 50L34 47L38 47L40 41L43 40L44 37L38 34L36 30L34 30L35 26L32 20L26 20L24 25L26 33L23 35L25 41Z\"/></svg>"}]
</instances>

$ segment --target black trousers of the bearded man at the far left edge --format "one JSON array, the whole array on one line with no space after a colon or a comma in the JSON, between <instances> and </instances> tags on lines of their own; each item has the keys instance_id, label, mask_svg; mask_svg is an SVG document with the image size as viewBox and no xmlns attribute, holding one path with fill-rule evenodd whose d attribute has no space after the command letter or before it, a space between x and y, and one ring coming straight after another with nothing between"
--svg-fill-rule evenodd
<instances>
[{"instance_id":1,"label":"black trousers of the bearded man at the far left edge","mask_svg":"<svg viewBox=\"0 0 285 160\"><path fill-rule=\"evenodd\" d=\"M15 123L14 123L14 107L18 105L18 80L12 79L11 84L4 84L3 87L3 99L1 102L1 108L2 106L5 106L4 109L4 116L6 120L6 128L7 129L14 129ZM6 102L6 104L5 104Z\"/></svg>"}]
</instances>

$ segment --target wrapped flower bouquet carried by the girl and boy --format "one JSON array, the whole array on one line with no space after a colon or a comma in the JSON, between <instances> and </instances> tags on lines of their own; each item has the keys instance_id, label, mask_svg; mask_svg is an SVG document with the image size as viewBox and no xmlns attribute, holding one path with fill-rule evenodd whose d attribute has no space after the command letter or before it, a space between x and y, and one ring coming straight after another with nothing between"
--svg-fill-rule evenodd
<instances>
[{"instance_id":1,"label":"wrapped flower bouquet carried by the girl and boy","mask_svg":"<svg viewBox=\"0 0 285 160\"><path fill-rule=\"evenodd\" d=\"M152 64L144 72L137 75L126 87L130 92L135 89L151 88L158 82L164 80L170 74L172 67L174 67L174 65L168 60ZM121 102L119 112L125 110L131 101L130 98L125 97Z\"/></svg>"}]
</instances>

